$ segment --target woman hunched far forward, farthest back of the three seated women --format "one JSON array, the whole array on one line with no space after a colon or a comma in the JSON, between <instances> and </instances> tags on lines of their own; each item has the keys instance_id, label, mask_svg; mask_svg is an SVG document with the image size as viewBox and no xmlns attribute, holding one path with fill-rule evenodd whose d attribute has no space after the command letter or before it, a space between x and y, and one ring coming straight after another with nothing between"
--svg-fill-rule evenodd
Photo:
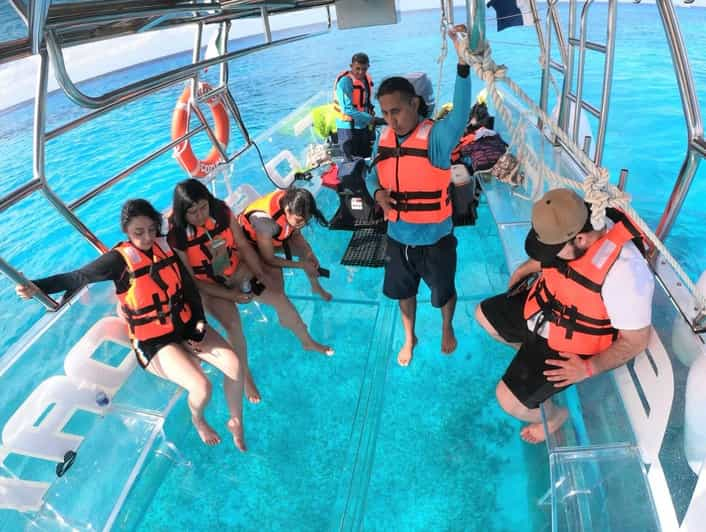
<instances>
[{"instance_id":1,"label":"woman hunched far forward, farthest back of the three seated women","mask_svg":"<svg viewBox=\"0 0 706 532\"><path fill-rule=\"evenodd\" d=\"M326 218L316 207L316 201L311 192L303 188L289 188L276 190L266 194L250 205L238 217L238 222L245 231L245 235L253 242L258 254L268 271L274 269L275 275L271 281L276 281L274 286L265 286L275 293L284 292L283 268L299 268L304 270L309 278L311 289L325 301L331 300L331 294L319 283L321 275L319 261L314 251L301 234L301 228L314 217L323 226L328 225ZM278 257L276 253L282 251L286 258ZM292 257L299 260L292 260ZM264 294L263 294L264 295ZM289 299L284 296L291 305ZM292 306L292 308L294 308ZM299 315L297 314L297 317ZM301 318L299 318L301 320ZM280 321L282 316L280 314ZM296 331L295 331L296 333ZM305 342L297 334L306 349L315 349L326 355L333 355L333 349L314 342Z\"/></svg>"}]
</instances>

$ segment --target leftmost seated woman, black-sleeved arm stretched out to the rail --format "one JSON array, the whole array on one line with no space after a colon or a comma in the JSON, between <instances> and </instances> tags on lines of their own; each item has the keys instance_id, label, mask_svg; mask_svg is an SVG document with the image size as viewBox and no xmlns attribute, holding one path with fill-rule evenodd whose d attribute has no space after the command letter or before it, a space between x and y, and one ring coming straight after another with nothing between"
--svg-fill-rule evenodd
<instances>
[{"instance_id":1,"label":"leftmost seated woman, black-sleeved arm stretched out to the rail","mask_svg":"<svg viewBox=\"0 0 706 532\"><path fill-rule=\"evenodd\" d=\"M220 443L220 437L204 417L211 382L200 360L218 368L230 412L228 430L238 449L245 451L240 361L206 323L188 272L159 235L162 216L149 202L135 199L123 205L120 223L126 242L79 270L18 285L15 291L27 299L40 289L46 293L74 291L89 283L113 281L140 366L186 389L191 419L207 445Z\"/></svg>"}]
</instances>

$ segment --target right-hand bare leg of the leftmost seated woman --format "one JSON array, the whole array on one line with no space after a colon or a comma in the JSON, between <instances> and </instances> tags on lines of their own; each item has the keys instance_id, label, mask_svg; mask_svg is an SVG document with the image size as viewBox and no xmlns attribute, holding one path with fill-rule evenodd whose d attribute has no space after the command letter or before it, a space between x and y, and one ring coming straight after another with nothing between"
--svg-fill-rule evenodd
<instances>
[{"instance_id":1,"label":"right-hand bare leg of the leftmost seated woman","mask_svg":"<svg viewBox=\"0 0 706 532\"><path fill-rule=\"evenodd\" d=\"M201 360L205 360L223 373L223 391L228 403L230 419L228 430L233 434L233 442L241 451L246 451L243 432L243 365L228 342L210 325L199 343L190 343L191 350Z\"/></svg>"}]
</instances>

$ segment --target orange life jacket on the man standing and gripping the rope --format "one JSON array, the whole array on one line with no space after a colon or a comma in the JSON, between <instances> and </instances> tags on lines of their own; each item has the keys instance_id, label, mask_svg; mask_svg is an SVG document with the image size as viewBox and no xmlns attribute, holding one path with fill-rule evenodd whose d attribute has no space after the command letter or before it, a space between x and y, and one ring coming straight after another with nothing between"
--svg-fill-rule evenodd
<instances>
[{"instance_id":1,"label":"orange life jacket on the man standing and gripping the rope","mask_svg":"<svg viewBox=\"0 0 706 532\"><path fill-rule=\"evenodd\" d=\"M380 134L377 165L380 187L390 190L397 202L397 220L411 223L439 223L451 216L451 170L437 168L429 160L429 134L433 120L423 120L397 144L390 127ZM393 221L397 221L393 220Z\"/></svg>"}]
</instances>

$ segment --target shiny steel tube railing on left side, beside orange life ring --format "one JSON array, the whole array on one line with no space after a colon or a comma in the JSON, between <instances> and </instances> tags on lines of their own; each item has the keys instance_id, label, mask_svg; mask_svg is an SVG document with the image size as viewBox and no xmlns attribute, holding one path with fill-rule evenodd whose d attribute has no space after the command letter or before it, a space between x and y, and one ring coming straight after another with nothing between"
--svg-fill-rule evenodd
<instances>
[{"instance_id":1,"label":"shiny steel tube railing on left side, beside orange life ring","mask_svg":"<svg viewBox=\"0 0 706 532\"><path fill-rule=\"evenodd\" d=\"M193 9L194 8L192 7L192 10ZM267 10L264 9L263 13L266 15ZM96 16L100 17L102 15ZM82 19L82 21L87 22L88 19ZM222 160L225 163L232 162L234 159L236 159L237 157L242 155L246 150L252 147L252 140L250 138L248 129L245 123L243 122L235 98L233 97L228 87L228 61L263 50L265 48L270 48L272 46L288 44L304 38L320 35L322 32L312 31L301 35L278 39L275 41L272 40L271 33L268 33L268 42L265 44L250 46L244 49L228 52L227 45L230 21L222 20L219 21L220 31L216 40L218 55L213 58L201 58L202 34L204 24L204 22L199 22L196 26L192 64L175 68L168 72L143 79L141 81L126 85L124 87L108 92L106 94L102 94L100 96L89 96L87 94L84 94L78 88L77 84L70 78L66 70L63 50L59 44L59 40L57 39L55 30L52 29L55 26L47 26L47 28L45 28L46 49L39 50L40 64L37 77L34 113L35 120L33 135L33 179L23 184L22 186L16 188L15 190L11 191L4 197L0 198L0 212L22 201L30 194L36 191L41 191L47 197L50 203L54 206L54 208L61 214L61 216L66 219L71 224L71 226L73 226L79 232L79 234L81 234L98 252L104 253L108 250L108 246L106 246L105 243L103 243L96 236L96 234L91 231L91 229L79 219L76 214L77 208L86 204L93 198L99 196L100 194L110 189L112 186L116 185L126 177L130 176L140 168L151 163L159 156L167 153L169 150L179 146L185 141L188 141L190 138L194 137L195 135L201 132L205 132L207 134L207 136L211 140L211 143L219 150ZM328 27L326 31L328 31L330 27L331 19L329 14ZM52 64L54 72L56 73L57 81L59 82L61 88L64 90L65 94L69 97L69 99L71 99L74 103L78 104L79 106L92 109L92 111L47 132L46 101L48 93L47 78L50 63ZM220 83L212 90L206 91L206 93L204 94L198 94L198 91L193 89L198 86L199 73L202 70L212 66L220 66ZM69 203L68 205L56 194L56 192L47 182L45 174L44 157L45 146L47 141L58 138L61 135L64 135L67 132L73 130L74 128L85 124L91 120L94 120L101 115L109 113L110 111L113 111L118 107L124 106L130 102L134 102L140 98L144 98L150 94L153 94L161 89L187 80L191 81L191 94L197 95L191 99L189 110L194 111L194 114L200 124L196 125L195 127L191 127L189 121L187 121L189 127L182 136L153 150L151 153L142 157L140 160L131 164L125 169L119 171L114 176L106 179L99 185L95 186L93 189L84 193L81 197ZM222 101L225 103L225 106L228 111L230 111L230 114L232 115L235 123L238 125L243 139L245 140L244 146L239 147L232 153L228 153L226 146L221 146L221 144L216 138L211 124L207 120L203 111L199 108L199 104L204 103L213 97L222 98ZM7 275L16 284L28 283L28 280L16 268L9 264L7 261L5 261L2 257L0 257L0 271ZM41 291L37 293L36 298L47 310L53 311L60 307L60 303L57 303L48 294L41 293Z\"/></svg>"}]
</instances>

